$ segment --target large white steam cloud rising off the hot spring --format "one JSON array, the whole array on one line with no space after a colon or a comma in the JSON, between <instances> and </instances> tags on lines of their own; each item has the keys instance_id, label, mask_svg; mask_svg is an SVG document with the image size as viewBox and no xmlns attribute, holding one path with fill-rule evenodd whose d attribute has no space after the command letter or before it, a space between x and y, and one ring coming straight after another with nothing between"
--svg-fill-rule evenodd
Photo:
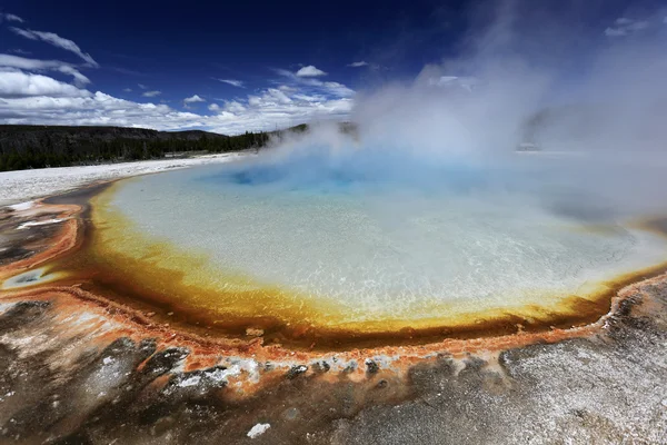
<instances>
[{"instance_id":1,"label":"large white steam cloud rising off the hot spring","mask_svg":"<svg viewBox=\"0 0 667 445\"><path fill-rule=\"evenodd\" d=\"M611 39L604 31L617 18L566 3L481 3L466 16L471 31L456 57L356 97L357 130L316 126L235 180L520 190L596 221L664 212L665 11L618 11L641 12L647 24ZM540 152L517 154L521 142Z\"/></svg>"}]
</instances>

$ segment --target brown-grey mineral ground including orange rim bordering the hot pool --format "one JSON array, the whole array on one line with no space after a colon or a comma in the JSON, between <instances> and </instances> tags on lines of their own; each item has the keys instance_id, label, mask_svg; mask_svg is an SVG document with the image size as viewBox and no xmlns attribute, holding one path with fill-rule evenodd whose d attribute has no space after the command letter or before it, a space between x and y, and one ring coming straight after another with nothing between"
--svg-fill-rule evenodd
<instances>
[{"instance_id":1,"label":"brown-grey mineral ground including orange rim bordering the hot pool","mask_svg":"<svg viewBox=\"0 0 667 445\"><path fill-rule=\"evenodd\" d=\"M0 214L0 280L74 248L74 210ZM0 443L667 443L665 276L587 328L331 354L180 333L24 276L0 291Z\"/></svg>"}]
</instances>

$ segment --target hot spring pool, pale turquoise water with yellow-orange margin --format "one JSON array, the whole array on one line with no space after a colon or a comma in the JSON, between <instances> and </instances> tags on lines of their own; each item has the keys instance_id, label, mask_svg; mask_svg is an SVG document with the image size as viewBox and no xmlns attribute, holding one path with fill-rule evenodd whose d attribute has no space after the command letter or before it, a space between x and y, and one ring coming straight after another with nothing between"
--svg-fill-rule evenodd
<instances>
[{"instance_id":1,"label":"hot spring pool, pale turquoise water with yellow-orange margin","mask_svg":"<svg viewBox=\"0 0 667 445\"><path fill-rule=\"evenodd\" d=\"M240 162L123 180L92 201L87 264L207 323L384 333L577 319L665 258L656 234L558 211L524 170L502 187L456 171Z\"/></svg>"}]
</instances>

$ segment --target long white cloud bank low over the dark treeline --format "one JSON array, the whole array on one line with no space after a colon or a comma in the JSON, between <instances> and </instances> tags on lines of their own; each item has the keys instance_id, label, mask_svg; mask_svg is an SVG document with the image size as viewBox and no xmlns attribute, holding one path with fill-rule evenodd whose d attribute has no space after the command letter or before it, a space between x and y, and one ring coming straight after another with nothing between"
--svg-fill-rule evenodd
<instances>
[{"instance_id":1,"label":"long white cloud bank low over the dark treeline","mask_svg":"<svg viewBox=\"0 0 667 445\"><path fill-rule=\"evenodd\" d=\"M296 78L296 75L292 73ZM0 72L0 116L4 123L100 125L178 130L201 128L227 135L273 130L313 119L346 119L351 108L341 83L301 79L245 98L208 106L210 115L178 111L165 103L141 103L90 92L18 68ZM311 86L312 82L316 86ZM142 91L155 96L152 91ZM352 91L354 92L354 91ZM197 96L197 95L196 95Z\"/></svg>"}]
</instances>

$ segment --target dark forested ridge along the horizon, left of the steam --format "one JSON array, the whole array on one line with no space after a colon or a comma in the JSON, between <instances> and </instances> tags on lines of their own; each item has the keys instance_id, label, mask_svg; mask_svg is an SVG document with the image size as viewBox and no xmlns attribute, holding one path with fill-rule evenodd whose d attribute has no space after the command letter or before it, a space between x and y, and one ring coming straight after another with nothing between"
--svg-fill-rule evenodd
<instances>
[{"instance_id":1,"label":"dark forested ridge along the horizon, left of the steam","mask_svg":"<svg viewBox=\"0 0 667 445\"><path fill-rule=\"evenodd\" d=\"M0 171L259 149L272 136L307 128L300 125L281 131L225 136L201 130L0 125Z\"/></svg>"}]
</instances>

